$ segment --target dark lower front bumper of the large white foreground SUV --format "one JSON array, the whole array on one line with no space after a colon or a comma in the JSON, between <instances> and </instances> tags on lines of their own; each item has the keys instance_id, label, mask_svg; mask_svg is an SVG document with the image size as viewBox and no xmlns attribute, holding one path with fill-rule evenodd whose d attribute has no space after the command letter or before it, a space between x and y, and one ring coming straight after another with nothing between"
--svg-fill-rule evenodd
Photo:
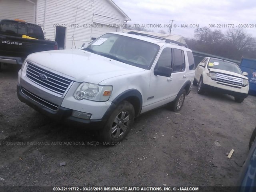
<instances>
[{"instance_id":1,"label":"dark lower front bumper of the large white foreground SUV","mask_svg":"<svg viewBox=\"0 0 256 192\"><path fill-rule=\"evenodd\" d=\"M82 127L82 128L88 128L88 129L91 128L93 130L99 130L103 128L111 112L110 110L108 110L102 119L84 120L84 119L73 117L72 109L60 107L58 111L53 111L39 104L38 102L32 100L22 92L20 84L17 85L17 96L21 102L26 103L28 106L34 108L35 110L41 112L42 114L45 114L46 116L49 116L50 118L58 122L72 125L72 127L76 126L76 127ZM110 106L110 109L112 108L114 108L114 106Z\"/></svg>"}]
</instances>

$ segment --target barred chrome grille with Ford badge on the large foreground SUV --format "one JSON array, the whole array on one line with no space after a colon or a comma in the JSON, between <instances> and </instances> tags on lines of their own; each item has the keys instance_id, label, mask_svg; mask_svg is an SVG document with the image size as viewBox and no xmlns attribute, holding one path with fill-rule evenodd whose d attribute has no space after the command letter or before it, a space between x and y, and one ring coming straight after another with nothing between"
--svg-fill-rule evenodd
<instances>
[{"instance_id":1,"label":"barred chrome grille with Ford badge on the large foreground SUV","mask_svg":"<svg viewBox=\"0 0 256 192\"><path fill-rule=\"evenodd\" d=\"M44 74L47 76L47 80L42 80L39 74ZM51 90L52 92L58 94L64 94L67 88L70 86L72 80L66 77L60 76L43 68L40 68L34 64L28 63L26 69L26 76L40 84L42 87Z\"/></svg>"}]
</instances>

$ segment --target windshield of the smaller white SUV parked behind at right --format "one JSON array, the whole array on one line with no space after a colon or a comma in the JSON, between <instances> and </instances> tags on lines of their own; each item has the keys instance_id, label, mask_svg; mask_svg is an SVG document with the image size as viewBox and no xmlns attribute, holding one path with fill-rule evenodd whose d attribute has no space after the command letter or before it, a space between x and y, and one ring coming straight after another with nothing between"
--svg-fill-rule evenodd
<instances>
[{"instance_id":1,"label":"windshield of the smaller white SUV parked behind at right","mask_svg":"<svg viewBox=\"0 0 256 192\"><path fill-rule=\"evenodd\" d=\"M208 68L221 69L225 71L242 74L237 64L222 61L222 60L210 59L208 63Z\"/></svg>"}]
</instances>

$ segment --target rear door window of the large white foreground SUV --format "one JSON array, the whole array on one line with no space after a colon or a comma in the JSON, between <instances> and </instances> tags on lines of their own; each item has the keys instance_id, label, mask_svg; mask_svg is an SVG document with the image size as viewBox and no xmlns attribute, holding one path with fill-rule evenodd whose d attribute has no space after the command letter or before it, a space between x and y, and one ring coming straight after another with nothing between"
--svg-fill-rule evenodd
<instances>
[{"instance_id":1,"label":"rear door window of the large white foreground SUV","mask_svg":"<svg viewBox=\"0 0 256 192\"><path fill-rule=\"evenodd\" d=\"M180 72L185 70L185 56L183 50L174 50L174 62L173 62L173 72Z\"/></svg>"}]
</instances>

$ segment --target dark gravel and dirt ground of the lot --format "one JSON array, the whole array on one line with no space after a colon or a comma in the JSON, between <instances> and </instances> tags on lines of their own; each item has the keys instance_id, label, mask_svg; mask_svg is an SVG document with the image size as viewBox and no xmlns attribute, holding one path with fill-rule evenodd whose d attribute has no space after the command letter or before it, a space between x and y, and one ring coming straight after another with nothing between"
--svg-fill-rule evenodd
<instances>
[{"instance_id":1,"label":"dark gravel and dirt ground of the lot","mask_svg":"<svg viewBox=\"0 0 256 192\"><path fill-rule=\"evenodd\" d=\"M256 125L256 97L238 104L228 95L198 95L193 86L180 112L143 114L123 142L108 147L94 132L58 124L20 102L17 73L0 72L0 186L236 184Z\"/></svg>"}]
</instances>

